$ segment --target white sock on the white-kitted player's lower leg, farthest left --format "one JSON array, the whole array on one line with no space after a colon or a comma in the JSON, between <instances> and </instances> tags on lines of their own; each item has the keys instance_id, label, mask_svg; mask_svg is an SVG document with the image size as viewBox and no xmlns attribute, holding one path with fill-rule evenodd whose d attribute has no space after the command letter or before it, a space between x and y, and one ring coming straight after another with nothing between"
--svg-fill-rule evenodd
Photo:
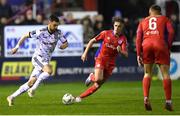
<instances>
[{"instance_id":1,"label":"white sock on the white-kitted player's lower leg, farthest left","mask_svg":"<svg viewBox=\"0 0 180 116\"><path fill-rule=\"evenodd\" d=\"M15 97L21 95L22 93L26 92L28 89L29 89L29 86L28 86L28 83L26 82L26 83L24 83L23 85L21 85L21 86L19 87L19 89L16 90L16 91L11 95L11 97L15 98Z\"/></svg>"}]
</instances>

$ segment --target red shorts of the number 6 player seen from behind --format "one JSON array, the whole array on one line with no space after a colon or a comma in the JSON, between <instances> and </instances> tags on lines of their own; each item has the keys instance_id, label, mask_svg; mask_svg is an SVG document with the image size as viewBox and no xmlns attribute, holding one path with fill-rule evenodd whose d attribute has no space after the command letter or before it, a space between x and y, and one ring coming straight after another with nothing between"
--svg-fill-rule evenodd
<instances>
[{"instance_id":1,"label":"red shorts of the number 6 player seen from behind","mask_svg":"<svg viewBox=\"0 0 180 116\"><path fill-rule=\"evenodd\" d=\"M166 45L143 45L144 64L166 64L170 65L170 52Z\"/></svg>"}]
</instances>

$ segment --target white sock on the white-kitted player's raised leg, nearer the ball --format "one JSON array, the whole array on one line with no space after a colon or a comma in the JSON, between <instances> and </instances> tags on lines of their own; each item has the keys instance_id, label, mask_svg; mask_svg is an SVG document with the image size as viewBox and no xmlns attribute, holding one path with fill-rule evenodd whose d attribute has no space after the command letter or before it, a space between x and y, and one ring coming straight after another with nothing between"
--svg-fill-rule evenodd
<instances>
[{"instance_id":1,"label":"white sock on the white-kitted player's raised leg, nearer the ball","mask_svg":"<svg viewBox=\"0 0 180 116\"><path fill-rule=\"evenodd\" d=\"M32 90L36 90L37 87L40 85L40 83L41 83L43 80L47 79L49 76L50 76L50 74L47 73L47 72L41 73L41 74L39 75L39 77L37 78L36 82L34 83L34 85L31 87L31 89L32 89Z\"/></svg>"}]
</instances>

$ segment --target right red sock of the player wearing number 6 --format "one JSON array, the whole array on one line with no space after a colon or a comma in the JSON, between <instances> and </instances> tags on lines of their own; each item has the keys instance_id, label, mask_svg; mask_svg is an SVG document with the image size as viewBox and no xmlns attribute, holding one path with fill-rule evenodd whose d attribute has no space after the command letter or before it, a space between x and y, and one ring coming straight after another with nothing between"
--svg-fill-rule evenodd
<instances>
[{"instance_id":1,"label":"right red sock of the player wearing number 6","mask_svg":"<svg viewBox=\"0 0 180 116\"><path fill-rule=\"evenodd\" d=\"M172 90L171 79L169 78L163 79L163 86L164 86L166 100L171 100L171 90Z\"/></svg>"}]
</instances>

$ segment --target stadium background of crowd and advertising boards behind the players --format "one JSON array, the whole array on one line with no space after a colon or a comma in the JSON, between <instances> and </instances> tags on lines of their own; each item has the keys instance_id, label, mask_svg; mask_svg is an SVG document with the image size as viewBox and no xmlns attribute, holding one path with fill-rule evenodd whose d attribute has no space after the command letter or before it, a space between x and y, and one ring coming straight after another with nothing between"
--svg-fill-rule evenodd
<instances>
[{"instance_id":1,"label":"stadium background of crowd and advertising boards behind the players","mask_svg":"<svg viewBox=\"0 0 180 116\"><path fill-rule=\"evenodd\" d=\"M164 15L168 16L175 28L175 41L172 47L170 73L173 80L180 77L180 1L179 0L0 0L0 84L12 86L27 81L31 70L31 55L35 48L34 40L27 40L18 54L11 55L10 50L25 32L45 26L48 16L59 16L61 28L70 47L64 52L56 50L53 54L52 82L80 82L93 71L94 54L99 44L89 52L86 63L80 55L90 38L104 29L111 28L112 16L120 16L125 22L124 33L128 38L129 57L118 57L117 67L112 77L113 82L141 82L143 69L137 66L135 34L139 21L148 16L149 7L157 3ZM5 1L5 4L2 3ZM154 68L153 80L161 78L157 67ZM10 85L10 86L11 86ZM56 84L55 84L56 85ZM127 84L128 85L128 84ZM1 86L8 87L8 86ZM141 86L140 86L141 87ZM30 113L31 114L31 113Z\"/></svg>"}]
</instances>

